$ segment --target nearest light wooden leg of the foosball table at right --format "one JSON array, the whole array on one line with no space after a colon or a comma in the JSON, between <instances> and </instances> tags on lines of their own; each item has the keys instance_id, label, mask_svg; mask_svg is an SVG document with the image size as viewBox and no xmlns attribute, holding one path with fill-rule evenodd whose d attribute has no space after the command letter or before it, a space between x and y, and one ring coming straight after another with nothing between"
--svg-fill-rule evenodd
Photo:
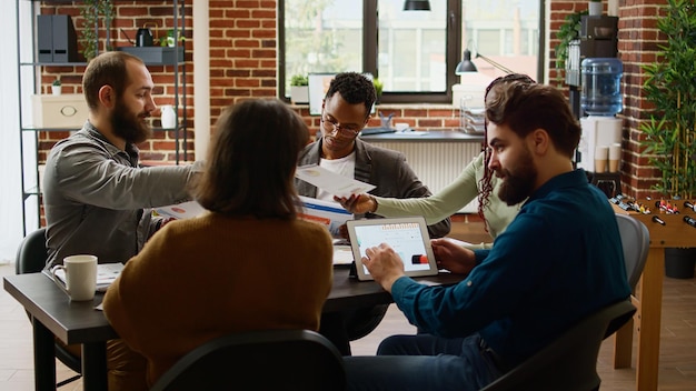
<instances>
[{"instance_id":1,"label":"nearest light wooden leg of the foosball table at right","mask_svg":"<svg viewBox=\"0 0 696 391\"><path fill-rule=\"evenodd\" d=\"M638 352L636 358L636 390L657 390L659 332L663 309L665 249L650 248L638 292Z\"/></svg>"}]
</instances>

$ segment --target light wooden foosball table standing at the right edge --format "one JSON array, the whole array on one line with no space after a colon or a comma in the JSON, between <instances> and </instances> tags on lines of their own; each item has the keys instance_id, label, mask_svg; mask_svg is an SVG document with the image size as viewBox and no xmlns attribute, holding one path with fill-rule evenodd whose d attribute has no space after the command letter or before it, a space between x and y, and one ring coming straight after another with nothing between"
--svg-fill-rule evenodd
<instances>
[{"instance_id":1,"label":"light wooden foosball table standing at the right edge","mask_svg":"<svg viewBox=\"0 0 696 391\"><path fill-rule=\"evenodd\" d=\"M684 222L684 215L696 218L693 210L678 207L679 214L659 214L654 208L655 201L637 200L638 203L650 205L652 214L623 211L615 208L617 213L626 213L640 220L650 231L650 250L643 269L643 277L636 288L637 295L633 298L638 309L634 321L625 324L615 338L614 368L630 368L633 353L634 324L638 339L636 355L636 390L657 390L659 363L659 331L663 307L663 280L665 278L665 248L696 247L696 231ZM662 219L665 224L653 220Z\"/></svg>"}]
</instances>

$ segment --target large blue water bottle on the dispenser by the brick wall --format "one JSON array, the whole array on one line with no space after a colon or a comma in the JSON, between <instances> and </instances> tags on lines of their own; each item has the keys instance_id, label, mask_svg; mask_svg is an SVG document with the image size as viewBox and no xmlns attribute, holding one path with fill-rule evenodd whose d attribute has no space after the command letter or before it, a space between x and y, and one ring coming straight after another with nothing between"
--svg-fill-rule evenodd
<instances>
[{"instance_id":1,"label":"large blue water bottle on the dispenser by the brick wall","mask_svg":"<svg viewBox=\"0 0 696 391\"><path fill-rule=\"evenodd\" d=\"M588 58L580 63L580 107L589 116L614 116L624 108L624 64L615 58Z\"/></svg>"}]
</instances>

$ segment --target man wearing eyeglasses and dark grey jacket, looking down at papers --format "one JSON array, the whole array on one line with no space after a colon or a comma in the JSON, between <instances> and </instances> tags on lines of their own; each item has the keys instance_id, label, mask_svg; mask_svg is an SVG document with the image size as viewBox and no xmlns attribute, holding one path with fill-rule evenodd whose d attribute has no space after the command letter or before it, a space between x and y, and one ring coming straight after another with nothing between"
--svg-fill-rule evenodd
<instances>
[{"instance_id":1,"label":"man wearing eyeglasses and dark grey jacket, looking down at papers","mask_svg":"<svg viewBox=\"0 0 696 391\"><path fill-rule=\"evenodd\" d=\"M370 193L388 198L421 198L431 196L402 153L375 147L358 134L367 124L377 96L372 82L356 72L337 74L321 104L321 134L305 147L298 164L319 164L341 176L376 186ZM300 196L336 201L334 194L296 179ZM374 213L356 214L356 219L376 218ZM449 233L449 218L428 227L430 238ZM372 331L387 311L387 305L359 309L350 313L324 314L320 332L341 353L349 355L348 341Z\"/></svg>"}]
</instances>

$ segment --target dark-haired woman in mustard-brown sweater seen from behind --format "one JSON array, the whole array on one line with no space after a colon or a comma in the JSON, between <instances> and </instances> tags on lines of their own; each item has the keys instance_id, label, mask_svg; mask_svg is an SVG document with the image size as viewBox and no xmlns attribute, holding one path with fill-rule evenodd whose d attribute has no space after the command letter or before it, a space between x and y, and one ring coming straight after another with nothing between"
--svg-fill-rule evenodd
<instances>
[{"instance_id":1,"label":"dark-haired woman in mustard-brown sweater seen from behind","mask_svg":"<svg viewBox=\"0 0 696 391\"><path fill-rule=\"evenodd\" d=\"M326 228L296 215L294 174L307 139L279 100L227 109L196 187L209 212L165 225L109 288L105 314L147 359L149 385L216 337L319 329L332 247Z\"/></svg>"}]
</instances>

